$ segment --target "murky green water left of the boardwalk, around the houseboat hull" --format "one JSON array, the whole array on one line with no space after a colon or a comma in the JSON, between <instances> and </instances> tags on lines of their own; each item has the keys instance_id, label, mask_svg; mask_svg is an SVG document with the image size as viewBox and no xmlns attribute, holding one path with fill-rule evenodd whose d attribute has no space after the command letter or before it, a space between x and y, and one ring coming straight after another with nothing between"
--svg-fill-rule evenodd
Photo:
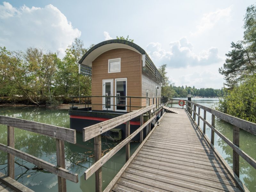
<instances>
[{"instance_id":1,"label":"murky green water left of the boardwalk, around the houseboat hull","mask_svg":"<svg viewBox=\"0 0 256 192\"><path fill-rule=\"evenodd\" d=\"M0 108L0 115L12 116L21 119L32 120L41 123L58 125L69 128L68 110L49 110L46 108ZM82 133L76 132L76 144L65 142L66 169L78 173L78 183L67 180L67 191L95 191L95 176L84 180L84 171L94 163L93 139L83 142ZM30 155L36 156L52 164L56 163L56 143L55 139L47 136L24 131L15 128L15 148L20 149ZM7 127L0 125L0 143L7 144ZM113 148L117 143L102 138L102 150ZM131 143L131 153L138 147L139 143ZM107 152L107 151L106 151ZM45 170L33 170L35 165L30 164L20 158L15 158L15 180L34 191L58 191L57 176ZM116 173L125 164L125 148L117 152L102 167L102 186L107 187ZM24 168L26 166L29 169ZM7 173L7 153L0 151L0 171Z\"/></svg>"}]
</instances>

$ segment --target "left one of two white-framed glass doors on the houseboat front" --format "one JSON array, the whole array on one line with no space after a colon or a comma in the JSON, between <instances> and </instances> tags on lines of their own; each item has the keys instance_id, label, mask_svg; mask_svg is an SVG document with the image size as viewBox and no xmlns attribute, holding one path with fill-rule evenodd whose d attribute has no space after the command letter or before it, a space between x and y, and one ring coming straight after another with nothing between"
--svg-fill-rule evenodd
<instances>
[{"instance_id":1,"label":"left one of two white-framed glass doors on the houseboat front","mask_svg":"<svg viewBox=\"0 0 256 192\"><path fill-rule=\"evenodd\" d=\"M102 95L113 96L113 79L106 79L102 82ZM113 111L113 98L103 97L102 98L103 110Z\"/></svg>"}]
</instances>

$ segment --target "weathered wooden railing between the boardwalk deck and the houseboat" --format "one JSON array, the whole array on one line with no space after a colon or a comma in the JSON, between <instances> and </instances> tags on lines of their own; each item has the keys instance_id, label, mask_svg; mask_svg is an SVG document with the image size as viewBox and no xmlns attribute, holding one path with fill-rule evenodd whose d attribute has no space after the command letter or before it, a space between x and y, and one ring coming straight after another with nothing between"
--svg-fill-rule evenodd
<instances>
[{"instance_id":1,"label":"weathered wooden railing between the boardwalk deck and the houseboat","mask_svg":"<svg viewBox=\"0 0 256 192\"><path fill-rule=\"evenodd\" d=\"M163 104L161 104L162 106ZM160 108L162 108L160 106ZM138 133L140 133L140 143L143 142L143 128L148 126L150 132L150 123L154 118L156 118L156 104L124 114L122 116L118 116L116 118L85 127L83 129L83 141L87 141L89 139L94 138L94 151L95 151L95 163L88 168L84 172L84 179L87 180L93 173L95 173L95 190L97 192L102 191L102 173L101 167L119 151L122 147L125 146L126 151L126 162L130 158L130 141L133 137L135 137ZM153 112L154 110L154 112ZM143 123L143 114L148 113L148 121ZM140 127L130 134L130 120L133 118L140 116ZM120 124L126 124L125 136L126 138L120 142L116 147L114 147L111 151L109 151L105 156L101 157L101 134L107 132Z\"/></svg>"}]
</instances>

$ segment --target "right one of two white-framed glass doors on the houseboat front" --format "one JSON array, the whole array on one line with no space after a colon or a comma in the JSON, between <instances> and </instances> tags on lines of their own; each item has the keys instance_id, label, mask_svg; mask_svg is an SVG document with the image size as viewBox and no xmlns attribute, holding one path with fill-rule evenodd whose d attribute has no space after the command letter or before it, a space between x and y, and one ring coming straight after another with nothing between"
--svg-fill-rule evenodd
<instances>
[{"instance_id":1,"label":"right one of two white-framed glass doors on the houseboat front","mask_svg":"<svg viewBox=\"0 0 256 192\"><path fill-rule=\"evenodd\" d=\"M115 92L116 92L116 102L115 111L125 111L126 112L126 101L127 101L127 78L116 79L115 80Z\"/></svg>"}]
</instances>

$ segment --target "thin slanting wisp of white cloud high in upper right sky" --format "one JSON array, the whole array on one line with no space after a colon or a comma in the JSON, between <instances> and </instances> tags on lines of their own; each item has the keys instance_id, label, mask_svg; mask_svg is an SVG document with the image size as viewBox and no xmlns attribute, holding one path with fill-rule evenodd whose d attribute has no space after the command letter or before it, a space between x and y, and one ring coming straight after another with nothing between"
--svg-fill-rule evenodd
<instances>
[{"instance_id":1,"label":"thin slanting wisp of white cloud high in upper right sky","mask_svg":"<svg viewBox=\"0 0 256 192\"><path fill-rule=\"evenodd\" d=\"M219 9L215 12L210 12L204 14L203 18L200 20L200 24L196 26L197 30L191 35L200 35L204 31L207 31L214 27L220 20L228 20L230 17L230 12L233 8L233 5L229 6L226 9Z\"/></svg>"}]
</instances>

